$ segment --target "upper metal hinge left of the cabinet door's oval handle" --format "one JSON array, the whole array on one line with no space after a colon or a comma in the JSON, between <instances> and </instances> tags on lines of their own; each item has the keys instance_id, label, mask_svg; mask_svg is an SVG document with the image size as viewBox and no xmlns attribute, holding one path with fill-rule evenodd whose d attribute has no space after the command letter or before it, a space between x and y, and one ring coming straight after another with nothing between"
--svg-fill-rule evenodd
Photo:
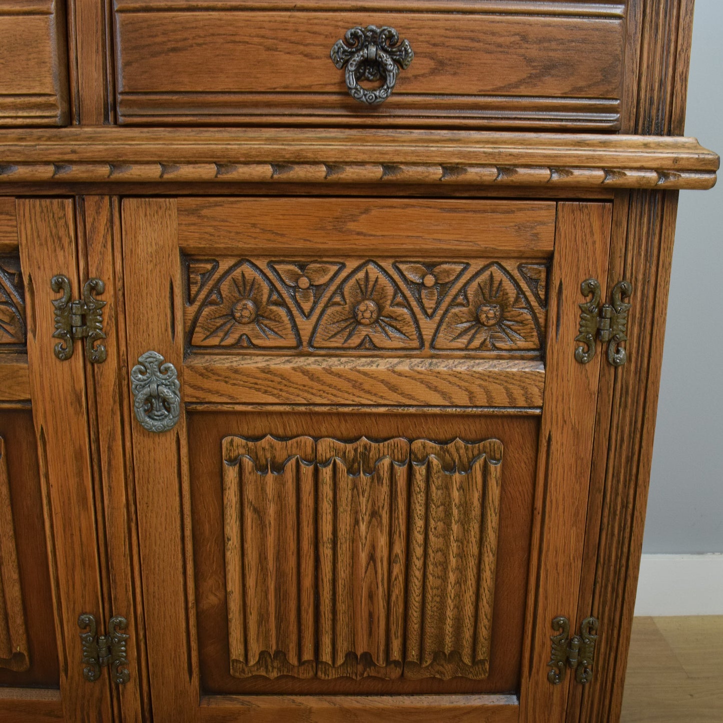
<instances>
[{"instance_id":1,"label":"upper metal hinge left of the cabinet door's oval handle","mask_svg":"<svg viewBox=\"0 0 723 723\"><path fill-rule=\"evenodd\" d=\"M91 278L83 286L83 298L70 300L70 281L67 276L58 274L50 282L53 291L58 294L62 291L60 299L53 299L55 307L55 333L53 337L60 339L56 343L55 356L65 361L73 356L75 339L85 339L85 356L93 364L106 361L106 347L95 343L105 339L103 333L103 307L106 301L95 299L93 294L103 294L106 285L99 278Z\"/></svg>"}]
</instances>

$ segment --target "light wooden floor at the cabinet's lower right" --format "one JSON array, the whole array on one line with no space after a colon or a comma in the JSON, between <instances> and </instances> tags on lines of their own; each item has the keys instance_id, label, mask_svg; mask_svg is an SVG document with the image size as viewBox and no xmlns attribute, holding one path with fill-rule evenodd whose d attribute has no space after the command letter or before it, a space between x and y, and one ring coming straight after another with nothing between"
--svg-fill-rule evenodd
<instances>
[{"instance_id":1,"label":"light wooden floor at the cabinet's lower right","mask_svg":"<svg viewBox=\"0 0 723 723\"><path fill-rule=\"evenodd\" d=\"M723 615L636 617L622 723L723 723Z\"/></svg>"}]
</instances>

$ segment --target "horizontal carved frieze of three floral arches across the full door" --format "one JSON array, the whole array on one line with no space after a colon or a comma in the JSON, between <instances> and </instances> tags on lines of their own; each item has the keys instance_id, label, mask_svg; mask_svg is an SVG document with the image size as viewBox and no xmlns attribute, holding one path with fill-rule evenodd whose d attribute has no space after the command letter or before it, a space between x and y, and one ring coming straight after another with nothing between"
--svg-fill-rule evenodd
<instances>
[{"instance_id":1,"label":"horizontal carved frieze of three floral arches across the full door","mask_svg":"<svg viewBox=\"0 0 723 723\"><path fill-rule=\"evenodd\" d=\"M547 260L183 261L189 353L543 356Z\"/></svg>"}]
</instances>

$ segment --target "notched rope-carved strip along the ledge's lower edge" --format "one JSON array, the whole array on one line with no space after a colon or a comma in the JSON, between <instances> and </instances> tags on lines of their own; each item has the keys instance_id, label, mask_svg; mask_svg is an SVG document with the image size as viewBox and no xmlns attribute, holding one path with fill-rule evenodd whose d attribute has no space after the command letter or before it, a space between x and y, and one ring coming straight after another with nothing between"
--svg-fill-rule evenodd
<instances>
[{"instance_id":1,"label":"notched rope-carved strip along the ledge's lower edge","mask_svg":"<svg viewBox=\"0 0 723 723\"><path fill-rule=\"evenodd\" d=\"M438 163L0 162L0 183L392 183L558 188L709 189L715 171Z\"/></svg>"}]
</instances>

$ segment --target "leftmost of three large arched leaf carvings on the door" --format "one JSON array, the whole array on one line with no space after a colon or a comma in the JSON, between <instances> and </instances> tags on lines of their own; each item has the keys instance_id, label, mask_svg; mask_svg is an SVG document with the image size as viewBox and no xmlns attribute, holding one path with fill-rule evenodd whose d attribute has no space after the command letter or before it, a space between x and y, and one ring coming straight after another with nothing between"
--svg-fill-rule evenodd
<instances>
[{"instance_id":1,"label":"leftmost of three large arched leaf carvings on the door","mask_svg":"<svg viewBox=\"0 0 723 723\"><path fill-rule=\"evenodd\" d=\"M268 276L252 262L232 266L197 314L192 346L290 349L301 345L291 312Z\"/></svg>"}]
</instances>

